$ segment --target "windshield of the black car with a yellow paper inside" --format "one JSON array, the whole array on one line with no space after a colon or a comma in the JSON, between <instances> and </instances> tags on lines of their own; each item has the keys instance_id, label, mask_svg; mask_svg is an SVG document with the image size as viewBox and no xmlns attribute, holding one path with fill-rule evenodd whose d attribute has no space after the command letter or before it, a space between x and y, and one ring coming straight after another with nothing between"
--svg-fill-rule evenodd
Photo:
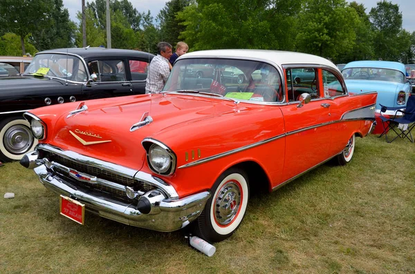
<instances>
[{"instance_id":1,"label":"windshield of the black car with a yellow paper inside","mask_svg":"<svg viewBox=\"0 0 415 274\"><path fill-rule=\"evenodd\" d=\"M84 63L78 57L55 53L36 55L24 74L47 75L77 82L88 80Z\"/></svg>"}]
</instances>

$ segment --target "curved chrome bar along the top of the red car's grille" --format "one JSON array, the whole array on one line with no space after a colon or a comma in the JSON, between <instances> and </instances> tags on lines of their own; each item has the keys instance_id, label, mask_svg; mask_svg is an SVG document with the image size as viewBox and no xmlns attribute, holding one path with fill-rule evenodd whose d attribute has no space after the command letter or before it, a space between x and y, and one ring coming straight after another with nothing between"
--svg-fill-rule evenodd
<instances>
[{"instance_id":1,"label":"curved chrome bar along the top of the red car's grille","mask_svg":"<svg viewBox=\"0 0 415 274\"><path fill-rule=\"evenodd\" d=\"M93 166L95 168L100 168L102 170L107 170L110 173L115 173L120 176L130 177L131 179L146 182L147 184L151 184L160 188L160 190L166 193L167 197L171 199L178 198L178 194L173 186L167 184L160 178L154 177L153 175L149 175L148 173L144 173L142 171L127 168L124 166L119 166L118 164L105 162L100 159L80 155L79 153L75 153L70 150L62 150L60 148L56 148L55 146L50 146L49 144L38 144L36 150L39 149L46 150L50 153L55 153L60 157L63 157L68 160L74 160L80 162L81 164Z\"/></svg>"}]
</instances>

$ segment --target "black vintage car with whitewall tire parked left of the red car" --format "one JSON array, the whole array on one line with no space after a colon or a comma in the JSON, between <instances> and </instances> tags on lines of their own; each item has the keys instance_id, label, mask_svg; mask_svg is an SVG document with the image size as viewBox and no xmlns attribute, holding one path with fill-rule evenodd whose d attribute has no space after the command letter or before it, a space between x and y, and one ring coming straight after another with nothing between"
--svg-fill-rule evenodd
<instances>
[{"instance_id":1,"label":"black vintage car with whitewall tire parked left of the red car","mask_svg":"<svg viewBox=\"0 0 415 274\"><path fill-rule=\"evenodd\" d=\"M137 50L64 48L37 53L21 77L0 78L0 159L18 160L32 150L33 108L145 93L154 55Z\"/></svg>"}]
</instances>

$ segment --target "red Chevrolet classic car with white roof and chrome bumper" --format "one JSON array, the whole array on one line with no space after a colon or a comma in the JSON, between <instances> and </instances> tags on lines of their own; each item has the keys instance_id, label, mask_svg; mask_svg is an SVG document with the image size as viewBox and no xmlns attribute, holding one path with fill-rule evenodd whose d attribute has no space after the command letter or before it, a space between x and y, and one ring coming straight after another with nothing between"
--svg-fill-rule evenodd
<instances>
[{"instance_id":1,"label":"red Chevrolet classic car with white roof and chrome bumper","mask_svg":"<svg viewBox=\"0 0 415 274\"><path fill-rule=\"evenodd\" d=\"M213 76L186 73L195 65ZM229 67L248 81L222 81ZM313 81L298 84L292 71L304 68ZM21 164L81 224L86 210L156 231L190 224L218 242L241 224L251 190L276 190L329 159L350 162L355 137L374 126L376 96L349 95L338 68L313 55L191 52L159 94L26 112L39 144Z\"/></svg>"}]
</instances>

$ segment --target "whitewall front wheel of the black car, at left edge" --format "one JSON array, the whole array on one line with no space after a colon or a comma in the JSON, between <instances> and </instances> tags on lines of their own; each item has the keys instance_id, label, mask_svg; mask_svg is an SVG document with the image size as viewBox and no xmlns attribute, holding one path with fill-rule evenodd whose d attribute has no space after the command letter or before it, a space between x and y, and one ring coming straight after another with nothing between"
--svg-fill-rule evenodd
<instances>
[{"instance_id":1,"label":"whitewall front wheel of the black car, at left edge","mask_svg":"<svg viewBox=\"0 0 415 274\"><path fill-rule=\"evenodd\" d=\"M0 121L0 159L21 159L37 145L30 124L22 117L9 117Z\"/></svg>"}]
</instances>

